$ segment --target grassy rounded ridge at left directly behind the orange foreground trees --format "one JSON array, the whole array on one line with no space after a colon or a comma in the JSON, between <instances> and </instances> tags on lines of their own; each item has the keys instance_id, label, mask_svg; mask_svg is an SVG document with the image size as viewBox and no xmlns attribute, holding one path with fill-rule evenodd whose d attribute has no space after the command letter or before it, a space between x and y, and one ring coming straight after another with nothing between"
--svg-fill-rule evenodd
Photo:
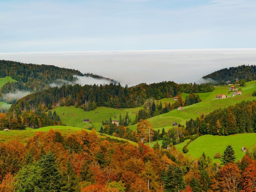
<instances>
[{"instance_id":1,"label":"grassy rounded ridge at left directly behind the orange foreground trees","mask_svg":"<svg viewBox=\"0 0 256 192\"><path fill-rule=\"evenodd\" d=\"M11 130L11 131L0 131L0 142L1 141L10 141L12 139L17 139L18 141L25 143L29 137L32 137L36 132L42 131L42 132L48 132L50 129L58 130L61 132L62 135L69 135L69 134L76 134L81 131L81 128L79 127L70 127L70 126L48 126L48 127L41 127L39 129L31 129L27 128L26 130ZM86 130L90 132L90 130ZM106 138L109 137L110 139L118 139L122 141L128 141L126 139L113 137L110 135L97 133L100 138ZM137 143L128 141L132 145L137 145Z\"/></svg>"}]
</instances>

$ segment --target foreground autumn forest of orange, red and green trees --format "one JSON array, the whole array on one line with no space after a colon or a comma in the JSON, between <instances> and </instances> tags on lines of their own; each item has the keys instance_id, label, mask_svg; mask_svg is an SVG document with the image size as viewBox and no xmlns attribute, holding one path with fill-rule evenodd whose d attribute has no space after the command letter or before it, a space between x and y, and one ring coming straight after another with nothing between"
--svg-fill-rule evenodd
<instances>
[{"instance_id":1,"label":"foreground autumn forest of orange, red and green trees","mask_svg":"<svg viewBox=\"0 0 256 192\"><path fill-rule=\"evenodd\" d=\"M255 157L254 150L235 162L227 146L221 166L205 153L193 159L175 147L100 139L95 130L66 136L50 130L26 145L0 143L0 192L255 191Z\"/></svg>"}]
</instances>

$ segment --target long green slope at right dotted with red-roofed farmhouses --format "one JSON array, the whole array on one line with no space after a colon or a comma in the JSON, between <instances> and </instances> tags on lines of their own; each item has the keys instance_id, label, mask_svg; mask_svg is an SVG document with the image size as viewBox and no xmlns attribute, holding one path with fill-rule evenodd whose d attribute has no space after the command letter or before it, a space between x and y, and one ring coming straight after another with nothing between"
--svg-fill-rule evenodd
<instances>
[{"instance_id":1,"label":"long green slope at right dotted with red-roofed farmhouses","mask_svg":"<svg viewBox=\"0 0 256 192\"><path fill-rule=\"evenodd\" d=\"M214 91L209 93L199 93L202 102L196 103L194 105L183 107L182 111L174 109L168 113L161 114L148 119L152 127L157 129L162 129L163 127L168 130L172 126L173 122L185 125L186 121L193 118L199 117L201 114L208 114L213 110L218 108L228 107L230 105L235 105L243 100L253 100L256 99L252 96L254 90L256 90L255 81L247 82L246 87L240 87L242 89L242 95L232 96L233 91L229 91L228 85L217 86ZM225 99L216 99L217 94L225 94L226 96L231 96ZM184 97L184 96L183 96ZM173 98L170 98L170 101ZM131 126L131 129L135 129L136 125Z\"/></svg>"}]
</instances>

